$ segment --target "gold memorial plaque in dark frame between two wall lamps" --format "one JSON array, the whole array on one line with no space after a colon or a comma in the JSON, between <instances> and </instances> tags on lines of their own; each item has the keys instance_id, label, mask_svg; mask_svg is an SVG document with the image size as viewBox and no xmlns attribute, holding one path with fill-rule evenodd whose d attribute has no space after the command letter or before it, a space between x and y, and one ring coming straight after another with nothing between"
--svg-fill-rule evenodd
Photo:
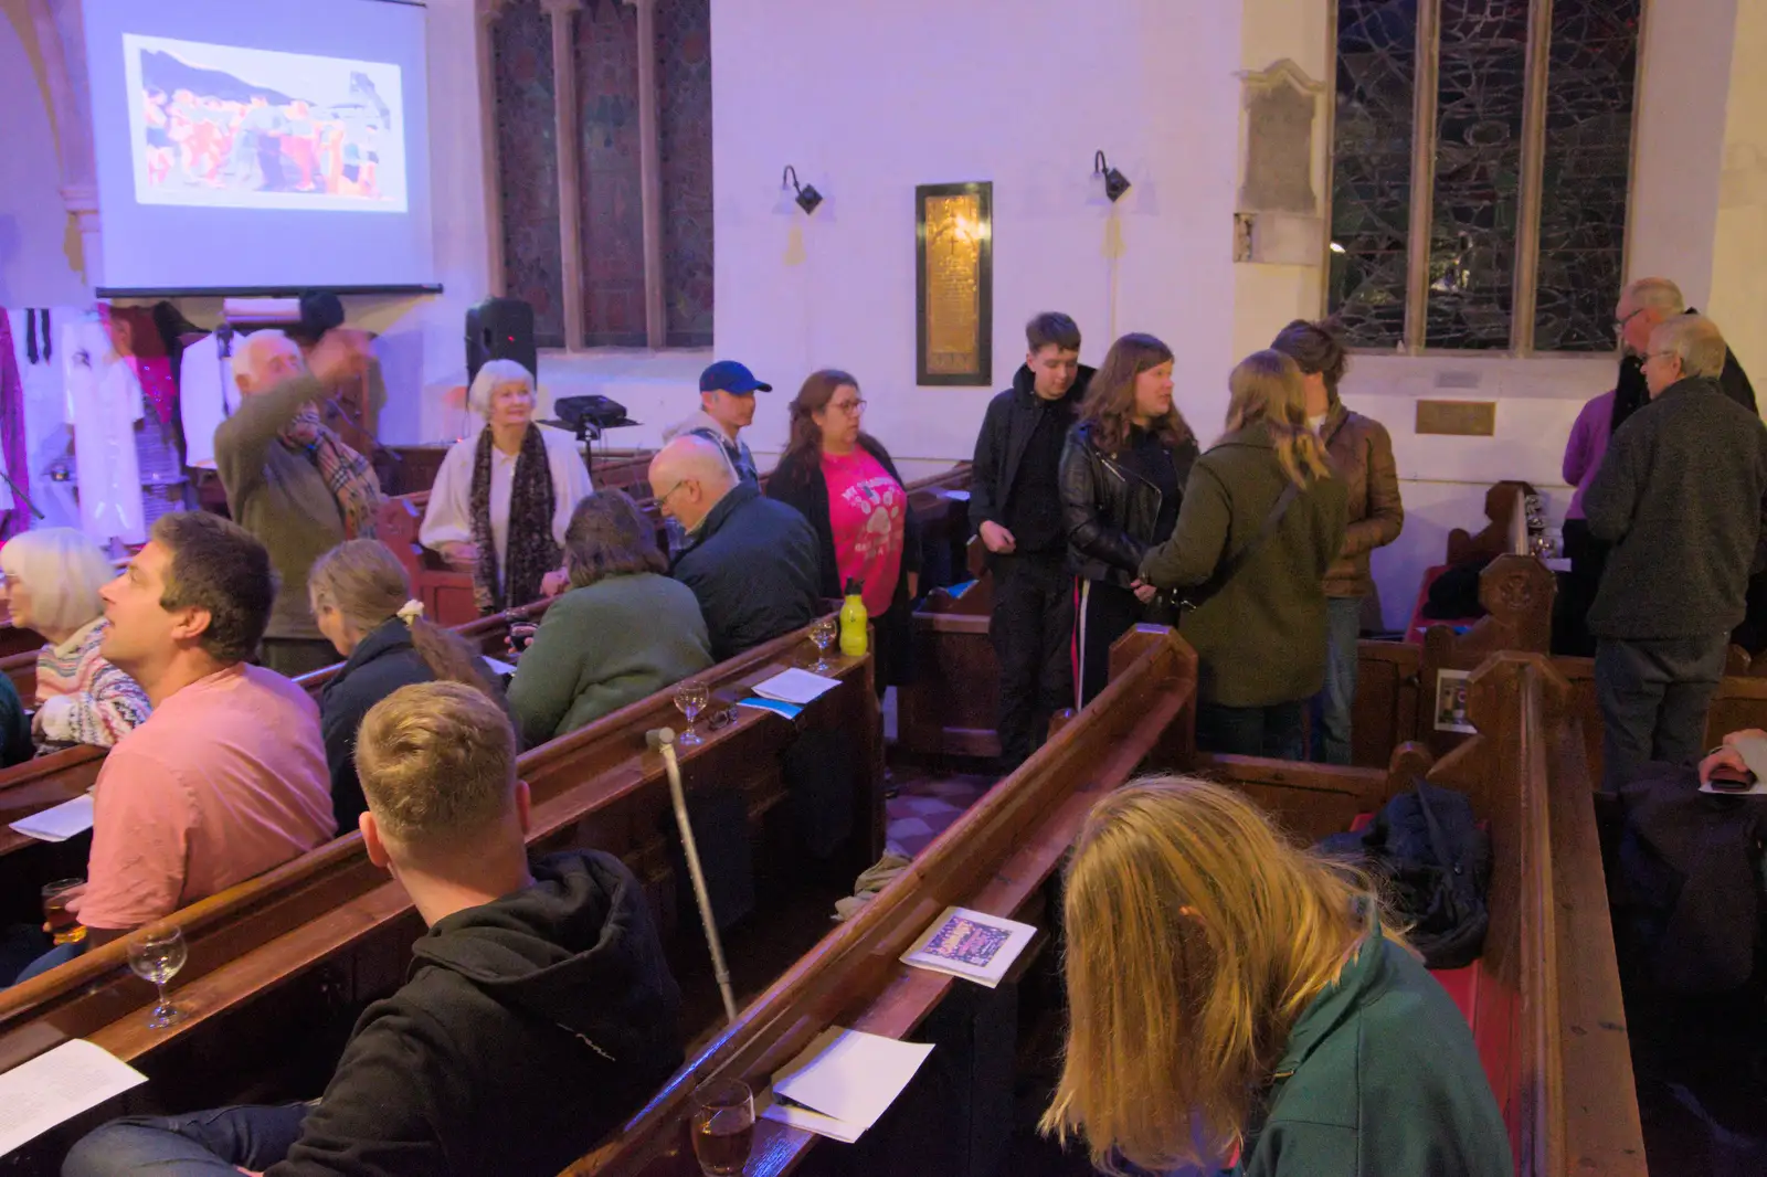
<instances>
[{"instance_id":1,"label":"gold memorial plaque in dark frame between two wall lamps","mask_svg":"<svg viewBox=\"0 0 1767 1177\"><path fill-rule=\"evenodd\" d=\"M914 189L917 383L993 387L993 182Z\"/></svg>"}]
</instances>

